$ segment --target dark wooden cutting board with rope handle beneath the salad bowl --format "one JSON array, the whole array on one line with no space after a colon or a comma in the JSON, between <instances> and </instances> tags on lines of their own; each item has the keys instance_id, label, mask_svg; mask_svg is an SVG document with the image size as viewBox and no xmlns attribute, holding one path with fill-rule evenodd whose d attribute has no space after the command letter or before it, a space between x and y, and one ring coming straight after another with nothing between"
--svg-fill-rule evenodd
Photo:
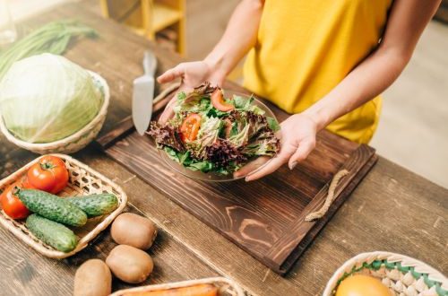
<instances>
[{"instance_id":1,"label":"dark wooden cutting board with rope handle beneath the salad bowl","mask_svg":"<svg viewBox=\"0 0 448 296\"><path fill-rule=\"evenodd\" d=\"M244 91L234 84L228 87ZM288 117L267 104L280 121ZM314 152L295 170L285 166L249 183L211 183L171 170L151 138L134 131L130 118L98 143L110 157L279 274L288 272L377 160L373 148L322 131ZM343 169L349 175L340 180L328 213L306 222L306 215L323 205L334 174Z\"/></svg>"}]
</instances>

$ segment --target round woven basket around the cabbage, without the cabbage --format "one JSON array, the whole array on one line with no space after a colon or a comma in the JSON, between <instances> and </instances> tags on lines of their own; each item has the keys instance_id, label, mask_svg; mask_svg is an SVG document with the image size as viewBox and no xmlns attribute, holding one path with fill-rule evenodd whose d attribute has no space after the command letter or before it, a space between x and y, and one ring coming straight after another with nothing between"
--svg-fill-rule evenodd
<instances>
[{"instance_id":1,"label":"round woven basket around the cabbage, without the cabbage","mask_svg":"<svg viewBox=\"0 0 448 296\"><path fill-rule=\"evenodd\" d=\"M29 150L30 152L35 152L38 154L48 154L48 153L74 153L80 151L82 148L90 144L90 142L98 135L99 130L104 124L106 115L108 113L108 105L110 100L110 91L108 83L99 74L90 72L93 82L99 88L99 91L103 93L104 100L99 113L93 120L87 125L82 127L81 130L69 135L62 140L56 142L35 144L28 143L16 138L11 132L4 126L4 119L0 116L0 130L8 139L9 142L16 144L17 146Z\"/></svg>"}]
</instances>

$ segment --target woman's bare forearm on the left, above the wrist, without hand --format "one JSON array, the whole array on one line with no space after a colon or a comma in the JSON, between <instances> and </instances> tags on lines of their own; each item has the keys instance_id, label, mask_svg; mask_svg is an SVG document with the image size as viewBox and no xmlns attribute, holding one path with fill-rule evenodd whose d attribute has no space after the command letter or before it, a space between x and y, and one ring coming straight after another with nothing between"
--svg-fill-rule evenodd
<instances>
[{"instance_id":1,"label":"woman's bare forearm on the left, above the wrist, without hand","mask_svg":"<svg viewBox=\"0 0 448 296\"><path fill-rule=\"evenodd\" d=\"M254 47L262 12L263 0L243 0L237 5L220 42L204 59L215 74L227 76Z\"/></svg>"}]
</instances>

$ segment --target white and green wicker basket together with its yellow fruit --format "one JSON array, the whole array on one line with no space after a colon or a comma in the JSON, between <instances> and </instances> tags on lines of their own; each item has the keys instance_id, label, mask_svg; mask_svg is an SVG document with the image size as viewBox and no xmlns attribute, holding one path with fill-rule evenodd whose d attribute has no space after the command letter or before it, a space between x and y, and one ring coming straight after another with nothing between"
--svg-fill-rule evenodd
<instances>
[{"instance_id":1,"label":"white and green wicker basket together with its yellow fruit","mask_svg":"<svg viewBox=\"0 0 448 296\"><path fill-rule=\"evenodd\" d=\"M332 275L323 296L446 296L448 280L433 267L390 252L359 254Z\"/></svg>"}]
</instances>

